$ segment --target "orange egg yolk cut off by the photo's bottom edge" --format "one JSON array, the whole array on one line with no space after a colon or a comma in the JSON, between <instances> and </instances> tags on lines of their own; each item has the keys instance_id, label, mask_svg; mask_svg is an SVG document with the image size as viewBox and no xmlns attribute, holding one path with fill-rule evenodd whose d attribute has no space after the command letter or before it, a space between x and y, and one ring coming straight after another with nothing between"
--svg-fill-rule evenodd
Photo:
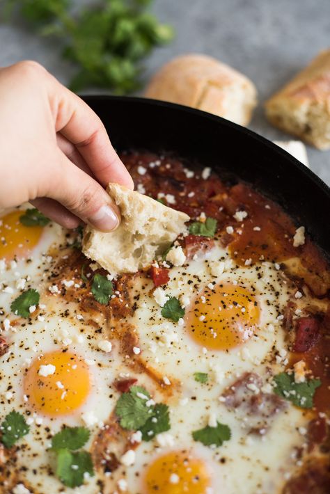
<instances>
[{"instance_id":1,"label":"orange egg yolk cut off by the photo's bottom edge","mask_svg":"<svg viewBox=\"0 0 330 494\"><path fill-rule=\"evenodd\" d=\"M146 494L206 494L211 479L207 465L184 452L171 452L153 461L146 471Z\"/></svg>"}]
</instances>

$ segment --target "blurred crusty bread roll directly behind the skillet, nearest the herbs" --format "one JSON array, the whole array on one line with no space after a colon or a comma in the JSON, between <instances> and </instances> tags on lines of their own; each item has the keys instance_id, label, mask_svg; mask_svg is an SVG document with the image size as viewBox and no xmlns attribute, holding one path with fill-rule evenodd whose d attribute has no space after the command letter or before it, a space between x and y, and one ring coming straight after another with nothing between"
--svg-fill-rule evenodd
<instances>
[{"instance_id":1,"label":"blurred crusty bread roll directly behind the skillet, nearest the herbs","mask_svg":"<svg viewBox=\"0 0 330 494\"><path fill-rule=\"evenodd\" d=\"M179 56L152 77L146 97L192 106L247 125L256 86L237 70L206 55Z\"/></svg>"}]
</instances>

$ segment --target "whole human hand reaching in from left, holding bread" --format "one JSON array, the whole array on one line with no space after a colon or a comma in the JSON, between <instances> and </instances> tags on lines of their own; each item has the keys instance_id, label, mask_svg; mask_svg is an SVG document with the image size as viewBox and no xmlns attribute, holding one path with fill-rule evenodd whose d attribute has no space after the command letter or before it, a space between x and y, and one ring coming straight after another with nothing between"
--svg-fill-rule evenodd
<instances>
[{"instance_id":1,"label":"whole human hand reaching in from left, holding bread","mask_svg":"<svg viewBox=\"0 0 330 494\"><path fill-rule=\"evenodd\" d=\"M104 186L132 178L100 118L38 63L0 69L0 129L0 208L30 201L66 228L116 228Z\"/></svg>"}]
</instances>

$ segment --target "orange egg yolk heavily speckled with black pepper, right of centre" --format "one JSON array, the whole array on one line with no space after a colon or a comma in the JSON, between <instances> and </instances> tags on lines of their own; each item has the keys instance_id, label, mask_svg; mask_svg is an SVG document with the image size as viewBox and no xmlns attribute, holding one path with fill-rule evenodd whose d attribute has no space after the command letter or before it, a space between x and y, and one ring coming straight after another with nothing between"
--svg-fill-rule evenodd
<instances>
[{"instance_id":1,"label":"orange egg yolk heavily speckled with black pepper, right of centre","mask_svg":"<svg viewBox=\"0 0 330 494\"><path fill-rule=\"evenodd\" d=\"M256 296L239 285L206 288L186 315L191 337L207 349L228 350L253 335L259 321Z\"/></svg>"}]
</instances>

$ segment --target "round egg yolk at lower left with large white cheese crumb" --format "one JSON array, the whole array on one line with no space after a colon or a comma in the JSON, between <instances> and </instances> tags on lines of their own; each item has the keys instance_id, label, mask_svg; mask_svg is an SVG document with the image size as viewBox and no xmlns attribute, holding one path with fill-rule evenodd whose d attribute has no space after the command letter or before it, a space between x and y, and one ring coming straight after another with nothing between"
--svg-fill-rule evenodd
<instances>
[{"instance_id":1,"label":"round egg yolk at lower left with large white cheese crumb","mask_svg":"<svg viewBox=\"0 0 330 494\"><path fill-rule=\"evenodd\" d=\"M88 365L81 357L54 351L33 361L25 376L24 390L36 411L66 415L84 404L90 381Z\"/></svg>"}]
</instances>

